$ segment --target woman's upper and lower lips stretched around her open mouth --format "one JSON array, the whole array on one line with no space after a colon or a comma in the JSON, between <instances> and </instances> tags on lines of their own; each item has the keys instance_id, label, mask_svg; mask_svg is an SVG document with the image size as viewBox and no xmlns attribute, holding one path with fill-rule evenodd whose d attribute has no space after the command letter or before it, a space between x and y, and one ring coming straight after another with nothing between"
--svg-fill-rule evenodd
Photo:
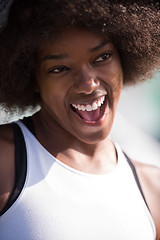
<instances>
[{"instance_id":1,"label":"woman's upper and lower lips stretched around her open mouth","mask_svg":"<svg viewBox=\"0 0 160 240\"><path fill-rule=\"evenodd\" d=\"M104 120L105 120L105 116L106 114L108 113L108 110L109 110L109 102L108 102L108 99L107 99L107 95L101 95L99 96L98 98L92 98L92 100L90 99L89 101L79 101L77 104L84 104L84 105L87 105L87 104L91 104L93 103L94 101L97 101L98 99L100 99L101 97L105 96L105 102L103 103L104 106L103 106L103 112L101 113L101 116L99 119L97 119L96 121L88 121L88 120L84 120L82 119L76 112L74 112L72 110L72 107L70 105L70 109L71 109L71 112L73 113L74 117L76 117L76 119L81 123L81 124L85 124L85 125L89 125L89 126L99 126L99 125L102 125ZM75 102L74 102L75 103ZM76 104L76 103L75 103Z\"/></svg>"}]
</instances>

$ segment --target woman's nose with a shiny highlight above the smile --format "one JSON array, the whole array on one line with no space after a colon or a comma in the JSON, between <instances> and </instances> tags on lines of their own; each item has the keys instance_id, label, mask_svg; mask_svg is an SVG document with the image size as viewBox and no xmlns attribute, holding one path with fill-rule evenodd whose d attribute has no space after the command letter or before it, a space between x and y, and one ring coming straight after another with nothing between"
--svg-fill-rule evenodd
<instances>
[{"instance_id":1,"label":"woman's nose with a shiny highlight above the smile","mask_svg":"<svg viewBox=\"0 0 160 240\"><path fill-rule=\"evenodd\" d=\"M83 67L77 71L75 79L76 93L91 94L100 85L94 69Z\"/></svg>"}]
</instances>

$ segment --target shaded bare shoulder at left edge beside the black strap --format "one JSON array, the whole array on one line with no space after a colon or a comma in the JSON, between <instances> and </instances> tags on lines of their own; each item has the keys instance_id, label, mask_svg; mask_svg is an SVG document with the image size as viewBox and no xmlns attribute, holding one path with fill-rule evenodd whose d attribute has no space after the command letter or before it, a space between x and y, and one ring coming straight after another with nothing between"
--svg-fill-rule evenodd
<instances>
[{"instance_id":1,"label":"shaded bare shoulder at left edge beside the black strap","mask_svg":"<svg viewBox=\"0 0 160 240\"><path fill-rule=\"evenodd\" d=\"M14 186L14 137L11 124L0 125L0 210Z\"/></svg>"}]
</instances>

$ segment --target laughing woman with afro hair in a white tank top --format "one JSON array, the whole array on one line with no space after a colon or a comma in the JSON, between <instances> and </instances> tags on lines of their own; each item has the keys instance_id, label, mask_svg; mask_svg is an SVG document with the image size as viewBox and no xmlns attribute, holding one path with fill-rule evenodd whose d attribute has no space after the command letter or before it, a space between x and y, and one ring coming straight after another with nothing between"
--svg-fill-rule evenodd
<instances>
[{"instance_id":1,"label":"laughing woman with afro hair in a white tank top","mask_svg":"<svg viewBox=\"0 0 160 240\"><path fill-rule=\"evenodd\" d=\"M15 0L0 38L0 238L160 238L160 170L108 138L123 84L160 65L150 1Z\"/></svg>"}]
</instances>

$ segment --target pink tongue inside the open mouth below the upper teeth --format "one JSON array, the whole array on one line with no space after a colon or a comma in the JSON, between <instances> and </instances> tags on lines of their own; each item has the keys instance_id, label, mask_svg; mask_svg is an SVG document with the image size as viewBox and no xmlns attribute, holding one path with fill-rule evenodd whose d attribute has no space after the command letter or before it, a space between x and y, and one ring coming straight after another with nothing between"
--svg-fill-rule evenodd
<instances>
[{"instance_id":1,"label":"pink tongue inside the open mouth below the upper teeth","mask_svg":"<svg viewBox=\"0 0 160 240\"><path fill-rule=\"evenodd\" d=\"M97 108L96 110L94 111L80 111L78 109L76 109L76 112L79 114L79 116L86 120L86 121L96 121L100 118L100 107Z\"/></svg>"}]
</instances>

